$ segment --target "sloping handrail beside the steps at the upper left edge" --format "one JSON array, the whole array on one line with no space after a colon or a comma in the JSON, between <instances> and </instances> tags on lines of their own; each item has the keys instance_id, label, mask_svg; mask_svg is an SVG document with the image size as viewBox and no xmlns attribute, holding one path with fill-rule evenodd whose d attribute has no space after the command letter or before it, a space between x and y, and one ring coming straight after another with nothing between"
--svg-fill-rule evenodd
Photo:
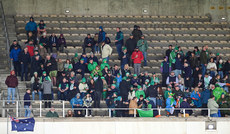
<instances>
[{"instance_id":1,"label":"sloping handrail beside the steps at the upper left edge","mask_svg":"<svg viewBox=\"0 0 230 134\"><path fill-rule=\"evenodd\" d=\"M6 51L7 51L7 54L9 55L9 51L10 51L10 40L9 40L8 29L7 29L7 26L6 26L6 18L5 18L5 13L4 13L2 1L0 1L0 8L1 8L3 25L4 25L5 38L6 38ZM7 57L8 57L9 68L11 69L12 65L11 65L10 57L9 56L7 56Z\"/></svg>"}]
</instances>

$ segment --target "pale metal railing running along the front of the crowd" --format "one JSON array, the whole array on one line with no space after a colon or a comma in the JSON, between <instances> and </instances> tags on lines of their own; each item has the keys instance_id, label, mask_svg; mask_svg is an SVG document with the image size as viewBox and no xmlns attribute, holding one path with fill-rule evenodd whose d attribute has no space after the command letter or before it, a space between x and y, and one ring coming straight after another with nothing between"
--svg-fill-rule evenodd
<instances>
[{"instance_id":1,"label":"pale metal railing running along the front of the crowd","mask_svg":"<svg viewBox=\"0 0 230 134\"><path fill-rule=\"evenodd\" d=\"M2 110L3 111L8 111L9 110L15 110L15 116L16 117L22 117L21 114L19 114L19 112L21 111L24 111L25 108L24 107L20 107L19 104L20 103L24 103L24 102L27 102L27 101L23 101L23 100L16 100L16 104L15 106L10 106L10 107L7 107L5 105L6 103L6 100L1 100L0 101L2 104L3 104L3 108ZM42 100L42 101L28 101L28 102L31 102L33 105L39 105L37 106L38 108L31 108L31 112L33 113L33 116L38 116L38 117L43 117L43 113L47 113L50 108L43 108L43 105L44 105L44 102L58 102L59 103L59 108L55 108L55 110L59 113L62 113L62 117L65 117L66 113L68 110L71 110L71 111L74 111L74 110L77 110L77 111L84 111L86 117L88 116L88 113L89 112L92 112L92 111L106 111L105 114L101 115L101 116L108 116L108 117L113 117L113 111L123 111L123 112L126 112L128 113L129 110L133 110L133 117L137 117L138 115L138 112L137 110L140 110L140 108L72 108L70 107L69 105L69 102L66 102L66 101L53 101L53 100ZM36 102L36 103L34 103ZM37 103L39 102L39 103ZM57 104L57 103L56 103ZM61 105L62 104L62 105ZM68 106L66 106L66 104ZM60 107L61 106L61 107ZM162 112L166 111L166 110L169 110L170 108L141 108L141 110L152 110L152 111L156 111L158 112L158 115L163 115ZM38 114L35 115L34 112L37 110ZM210 108L174 108L174 111L177 111L178 113L181 113L183 115L183 117L186 117L186 113L188 112L188 110L192 110L192 111L202 111L202 110L205 110L207 112L207 116L208 117L211 117L211 112L212 110L216 110L216 109L210 109ZM230 108L219 108L218 110L220 111L230 111ZM165 114L166 115L166 114Z\"/></svg>"}]
</instances>

